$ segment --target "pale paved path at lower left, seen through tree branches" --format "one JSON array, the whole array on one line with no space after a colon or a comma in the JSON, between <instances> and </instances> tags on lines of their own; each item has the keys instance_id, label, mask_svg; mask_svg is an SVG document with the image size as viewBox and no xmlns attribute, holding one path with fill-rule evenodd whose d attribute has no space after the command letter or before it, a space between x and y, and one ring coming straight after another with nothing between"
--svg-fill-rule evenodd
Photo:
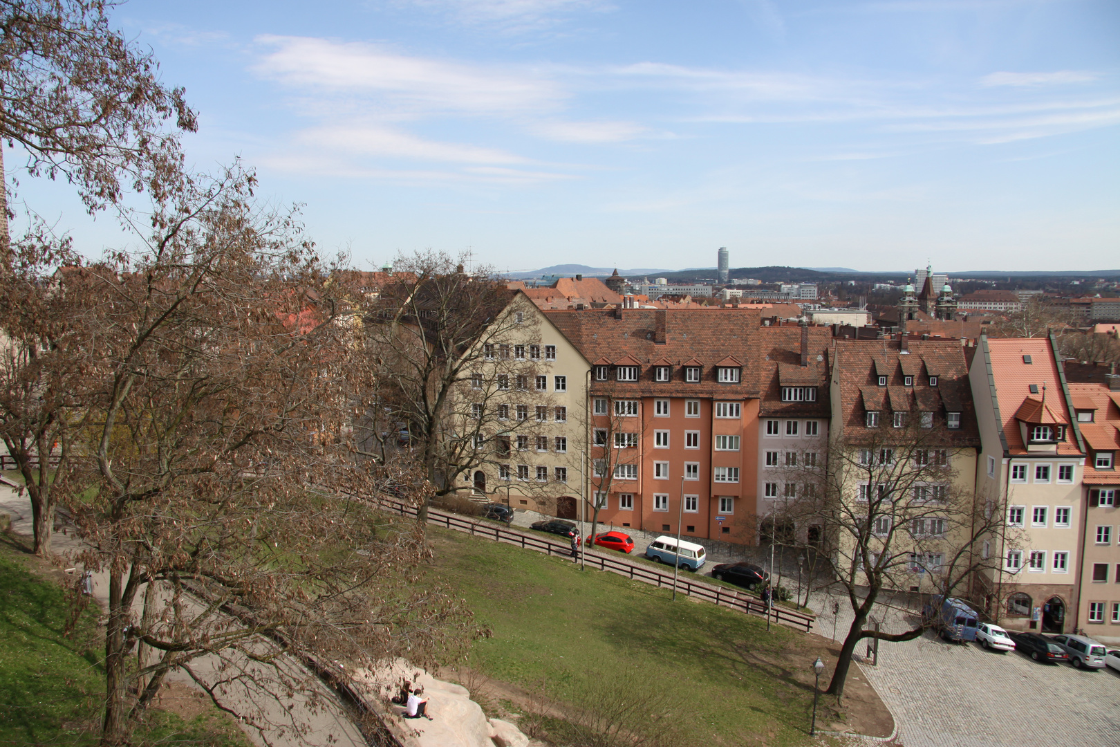
<instances>
[{"instance_id":1,"label":"pale paved path at lower left, seen through tree branches","mask_svg":"<svg viewBox=\"0 0 1120 747\"><path fill-rule=\"evenodd\" d=\"M18 495L16 491L0 486L0 512L11 516L12 531L20 534L30 535L31 527L31 504L27 495ZM59 555L74 553L78 549L78 543L73 534L56 532L52 539L52 550ZM104 609L108 606L109 579L106 573L95 573L93 576L94 598ZM138 604L142 603L143 594L137 595ZM139 615L139 609L137 610ZM263 710L270 727L264 729L264 737L256 729L248 725L240 725L245 735L255 745L271 744L274 747L305 747L318 745L334 745L335 747L365 747L365 739L361 731L346 715L346 709L337 702L334 693L323 688L325 706L318 710L311 710L307 700L297 693L295 698L273 694L283 692L283 688L276 684L271 690L265 684L269 674L262 671L254 671L251 662L242 657L232 656L221 659L217 655L204 656L195 660L192 667L204 682L214 682L218 679L231 676L233 672L243 671L251 673L249 680L240 684L233 684L227 694L222 699L223 704L240 710L241 712L253 712ZM256 667L258 670L260 667ZM224 671L223 671L224 670ZM167 678L174 682L181 682L195 688L195 683L183 672L172 672ZM255 682L254 682L255 680ZM200 692L200 690L199 690ZM310 732L306 737L299 737L291 729L292 723L306 725Z\"/></svg>"}]
</instances>

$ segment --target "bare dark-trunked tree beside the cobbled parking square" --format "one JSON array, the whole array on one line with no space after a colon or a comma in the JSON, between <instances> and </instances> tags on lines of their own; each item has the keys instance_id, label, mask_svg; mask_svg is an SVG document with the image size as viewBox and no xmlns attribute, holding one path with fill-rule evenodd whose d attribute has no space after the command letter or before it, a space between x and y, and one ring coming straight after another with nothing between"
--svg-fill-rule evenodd
<instances>
[{"instance_id":1,"label":"bare dark-trunked tree beside the cobbled parking square","mask_svg":"<svg viewBox=\"0 0 1120 747\"><path fill-rule=\"evenodd\" d=\"M916 622L902 633L868 629L886 594L917 586L926 595L951 596L999 562L984 558L980 543L1002 529L1004 508L978 501L971 471L954 466L974 458L974 450L954 447L942 429L923 427L928 413L897 417L905 424L868 429L849 441L833 437L822 463L786 470L796 496L780 502L774 515L797 527L799 549L823 561L851 607L828 689L838 697L860 641L909 641L930 625ZM809 532L820 541L810 542Z\"/></svg>"}]
</instances>

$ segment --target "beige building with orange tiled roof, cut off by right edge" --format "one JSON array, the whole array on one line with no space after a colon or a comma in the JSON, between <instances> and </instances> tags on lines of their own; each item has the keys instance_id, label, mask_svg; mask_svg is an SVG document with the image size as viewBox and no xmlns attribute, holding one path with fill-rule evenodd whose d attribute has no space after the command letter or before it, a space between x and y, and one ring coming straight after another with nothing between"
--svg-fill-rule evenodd
<instances>
[{"instance_id":1,"label":"beige building with orange tiled roof, cut off by right edge","mask_svg":"<svg viewBox=\"0 0 1120 747\"><path fill-rule=\"evenodd\" d=\"M1118 380L1112 376L1110 381ZM1120 644L1120 391L1109 391L1103 384L1070 383L1068 387L1088 451L1074 624L1102 643Z\"/></svg>"}]
</instances>

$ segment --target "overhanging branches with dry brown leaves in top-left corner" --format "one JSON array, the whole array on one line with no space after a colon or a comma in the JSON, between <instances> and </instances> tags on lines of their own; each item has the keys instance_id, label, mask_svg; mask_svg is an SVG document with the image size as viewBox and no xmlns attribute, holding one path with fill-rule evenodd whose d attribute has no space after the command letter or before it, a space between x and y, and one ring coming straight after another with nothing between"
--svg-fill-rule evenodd
<instances>
[{"instance_id":1,"label":"overhanging branches with dry brown leaves in top-left corner","mask_svg":"<svg viewBox=\"0 0 1120 747\"><path fill-rule=\"evenodd\" d=\"M165 87L151 54L110 26L113 4L0 0L0 138L27 151L32 176L76 185L91 211L119 203L122 178L160 198L181 165L177 130L197 128L183 88ZM6 192L0 199L7 253Z\"/></svg>"}]
</instances>

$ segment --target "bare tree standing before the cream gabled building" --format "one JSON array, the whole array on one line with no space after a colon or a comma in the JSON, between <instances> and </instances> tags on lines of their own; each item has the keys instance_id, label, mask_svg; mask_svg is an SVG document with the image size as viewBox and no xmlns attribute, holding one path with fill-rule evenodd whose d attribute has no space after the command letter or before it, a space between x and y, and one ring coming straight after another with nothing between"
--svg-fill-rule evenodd
<instances>
[{"instance_id":1,"label":"bare tree standing before the cream gabled building","mask_svg":"<svg viewBox=\"0 0 1120 747\"><path fill-rule=\"evenodd\" d=\"M386 439L407 443L432 497L473 485L476 470L506 468L514 450L535 451L538 426L559 419L539 383L545 351L535 308L487 269L468 273L440 253L398 258L393 277L358 307L363 428L379 458ZM519 478L542 492L535 475ZM424 504L420 521L427 512Z\"/></svg>"}]
</instances>

